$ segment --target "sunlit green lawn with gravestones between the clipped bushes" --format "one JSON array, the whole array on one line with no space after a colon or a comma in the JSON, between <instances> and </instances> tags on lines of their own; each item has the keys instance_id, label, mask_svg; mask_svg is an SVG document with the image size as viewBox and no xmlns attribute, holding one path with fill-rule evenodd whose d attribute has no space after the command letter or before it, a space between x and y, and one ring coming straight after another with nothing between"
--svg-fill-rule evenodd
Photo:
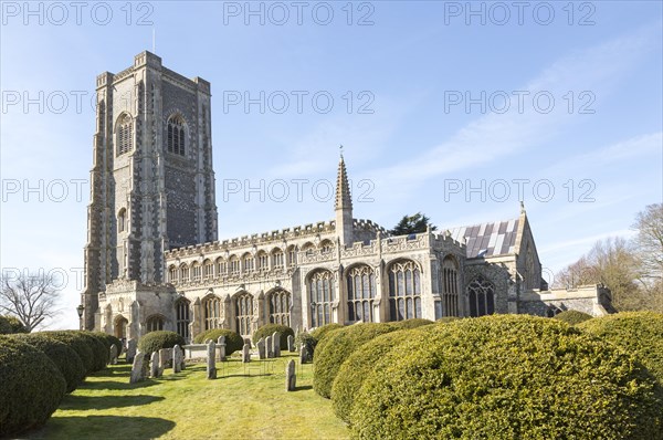
<instances>
[{"instance_id":1,"label":"sunlit green lawn with gravestones between the clipped bushes","mask_svg":"<svg viewBox=\"0 0 663 440\"><path fill-rule=\"evenodd\" d=\"M188 365L159 379L129 384L119 364L90 376L46 425L29 439L347 439L332 401L313 391L313 366L297 363L297 389L285 391L278 359L217 363L208 380L204 364Z\"/></svg>"}]
</instances>

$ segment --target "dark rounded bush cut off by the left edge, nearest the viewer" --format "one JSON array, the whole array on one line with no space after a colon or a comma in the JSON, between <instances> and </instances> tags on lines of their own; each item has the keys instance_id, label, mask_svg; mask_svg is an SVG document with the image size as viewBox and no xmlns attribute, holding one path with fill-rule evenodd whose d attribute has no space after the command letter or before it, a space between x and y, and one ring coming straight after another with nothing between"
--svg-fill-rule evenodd
<instances>
[{"instance_id":1,"label":"dark rounded bush cut off by the left edge, nearest the viewer","mask_svg":"<svg viewBox=\"0 0 663 440\"><path fill-rule=\"evenodd\" d=\"M57 409L66 383L40 349L0 336L0 437L36 428Z\"/></svg>"}]
</instances>

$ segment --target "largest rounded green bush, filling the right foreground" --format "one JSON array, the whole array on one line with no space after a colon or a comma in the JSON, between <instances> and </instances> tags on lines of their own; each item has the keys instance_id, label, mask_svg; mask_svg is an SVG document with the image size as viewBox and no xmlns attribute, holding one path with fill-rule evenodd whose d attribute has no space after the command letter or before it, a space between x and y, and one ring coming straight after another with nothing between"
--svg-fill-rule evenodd
<instances>
[{"instance_id":1,"label":"largest rounded green bush, filling the right foreground","mask_svg":"<svg viewBox=\"0 0 663 440\"><path fill-rule=\"evenodd\" d=\"M630 354L559 321L493 315L396 346L358 391L355 438L662 438L663 389Z\"/></svg>"}]
</instances>

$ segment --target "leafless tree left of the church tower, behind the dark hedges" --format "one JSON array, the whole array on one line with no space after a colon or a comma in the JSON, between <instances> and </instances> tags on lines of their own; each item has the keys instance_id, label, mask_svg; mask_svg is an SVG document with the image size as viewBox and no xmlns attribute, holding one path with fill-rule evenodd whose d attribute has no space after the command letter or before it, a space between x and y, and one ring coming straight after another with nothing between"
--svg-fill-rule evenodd
<instances>
[{"instance_id":1,"label":"leafless tree left of the church tower, behind the dark hedges","mask_svg":"<svg viewBox=\"0 0 663 440\"><path fill-rule=\"evenodd\" d=\"M51 274L9 274L0 281L0 311L15 315L32 332L60 312L60 290Z\"/></svg>"}]
</instances>

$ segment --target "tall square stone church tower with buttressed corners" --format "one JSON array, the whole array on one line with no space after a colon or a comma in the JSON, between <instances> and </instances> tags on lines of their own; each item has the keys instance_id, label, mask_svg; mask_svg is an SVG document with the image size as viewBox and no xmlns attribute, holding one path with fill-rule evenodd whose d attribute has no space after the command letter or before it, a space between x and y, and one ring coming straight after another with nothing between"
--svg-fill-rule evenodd
<instances>
[{"instance_id":1,"label":"tall square stone church tower with buttressed corners","mask_svg":"<svg viewBox=\"0 0 663 440\"><path fill-rule=\"evenodd\" d=\"M218 239L210 83L143 52L97 76L83 327L114 281L166 282L164 253Z\"/></svg>"}]
</instances>

